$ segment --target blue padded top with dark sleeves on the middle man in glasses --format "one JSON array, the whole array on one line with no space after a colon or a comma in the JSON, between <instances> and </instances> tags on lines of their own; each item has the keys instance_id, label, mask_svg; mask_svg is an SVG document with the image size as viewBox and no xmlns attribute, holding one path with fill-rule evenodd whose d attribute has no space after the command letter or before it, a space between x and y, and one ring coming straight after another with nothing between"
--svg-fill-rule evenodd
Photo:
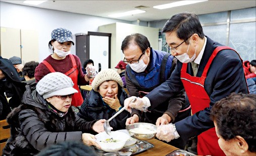
<instances>
[{"instance_id":1,"label":"blue padded top with dark sleeves on the middle man in glasses","mask_svg":"<svg viewBox=\"0 0 256 156\"><path fill-rule=\"evenodd\" d=\"M127 84L126 88L129 92L129 96L139 97L139 91L150 92L162 83L160 82L160 69L166 52L154 50L152 48L150 52L150 63L146 68L147 72L138 73L126 66L125 79ZM168 80L171 73L175 69L176 63L177 59L170 55L165 65L163 81ZM129 69L131 70L131 72L127 71ZM135 75L135 79L138 82L139 86L134 83L136 81L133 80L133 76L129 75L129 73ZM178 111L180 111L181 108L188 107L189 104L188 106L185 104L185 94L183 91L181 91L179 95L180 96L175 99L166 99L162 102L162 105L154 107L151 112L146 112L145 119L142 117L143 115L141 114L141 111L135 109L132 109L132 116L134 114L137 114L140 118L140 122L149 122L152 124L156 124L156 120L164 113L168 114L171 117L172 122L176 120L177 116L182 116L182 118L178 117L176 121L183 119L183 115L179 115Z\"/></svg>"}]
</instances>

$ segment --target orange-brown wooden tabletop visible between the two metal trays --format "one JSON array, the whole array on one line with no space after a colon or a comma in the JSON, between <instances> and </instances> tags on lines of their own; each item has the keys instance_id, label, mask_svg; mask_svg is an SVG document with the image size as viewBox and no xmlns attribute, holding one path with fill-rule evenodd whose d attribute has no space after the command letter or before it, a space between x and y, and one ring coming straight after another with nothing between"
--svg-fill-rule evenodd
<instances>
[{"instance_id":1,"label":"orange-brown wooden tabletop visible between the two metal trays","mask_svg":"<svg viewBox=\"0 0 256 156\"><path fill-rule=\"evenodd\" d=\"M145 150L141 153L138 153L136 154L136 156L137 155L167 155L173 150L179 149L157 139L147 140L147 142L153 144L154 147L148 150Z\"/></svg>"}]
</instances>

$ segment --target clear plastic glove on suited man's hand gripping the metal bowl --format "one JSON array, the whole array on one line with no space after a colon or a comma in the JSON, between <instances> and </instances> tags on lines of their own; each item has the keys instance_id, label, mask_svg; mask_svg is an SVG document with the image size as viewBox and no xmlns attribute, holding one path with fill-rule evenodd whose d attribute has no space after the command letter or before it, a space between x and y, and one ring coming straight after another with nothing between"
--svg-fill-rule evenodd
<instances>
[{"instance_id":1,"label":"clear plastic glove on suited man's hand gripping the metal bowl","mask_svg":"<svg viewBox=\"0 0 256 156\"><path fill-rule=\"evenodd\" d=\"M159 140L164 140L167 142L175 139L173 124L169 123L167 125L158 126L156 130L156 137Z\"/></svg>"}]
</instances>

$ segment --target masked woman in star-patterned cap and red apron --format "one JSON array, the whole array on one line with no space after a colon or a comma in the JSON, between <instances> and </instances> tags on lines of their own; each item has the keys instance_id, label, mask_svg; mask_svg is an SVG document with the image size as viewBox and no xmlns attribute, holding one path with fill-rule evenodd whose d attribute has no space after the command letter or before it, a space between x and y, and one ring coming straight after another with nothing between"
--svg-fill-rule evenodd
<instances>
[{"instance_id":1,"label":"masked woman in star-patterned cap and red apron","mask_svg":"<svg viewBox=\"0 0 256 156\"><path fill-rule=\"evenodd\" d=\"M89 84L90 79L96 75L95 67L90 65L86 68L87 74L82 71L81 62L78 56L71 54L71 46L74 45L71 31L65 28L57 28L51 32L49 49L53 52L45 58L35 70L36 83L44 75L50 72L62 72L71 77L74 88L78 93L72 96L72 105L80 106L83 103L82 95L78 85Z\"/></svg>"}]
</instances>

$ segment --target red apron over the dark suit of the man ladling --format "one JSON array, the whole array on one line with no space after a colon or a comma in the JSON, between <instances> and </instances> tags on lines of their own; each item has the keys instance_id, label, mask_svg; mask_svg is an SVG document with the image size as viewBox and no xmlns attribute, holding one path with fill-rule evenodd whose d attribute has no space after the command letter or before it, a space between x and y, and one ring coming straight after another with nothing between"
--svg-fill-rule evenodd
<instances>
[{"instance_id":1,"label":"red apron over the dark suit of the man ladling","mask_svg":"<svg viewBox=\"0 0 256 156\"><path fill-rule=\"evenodd\" d=\"M192 113L204 110L210 107L210 98L204 89L207 71L220 50L231 49L230 47L217 47L211 57L209 58L201 77L191 76L186 73L187 63L183 63L180 73L180 79L185 88L185 92L189 99ZM215 127L198 135L198 154L199 155L225 155L218 144L218 137L216 135Z\"/></svg>"}]
</instances>

